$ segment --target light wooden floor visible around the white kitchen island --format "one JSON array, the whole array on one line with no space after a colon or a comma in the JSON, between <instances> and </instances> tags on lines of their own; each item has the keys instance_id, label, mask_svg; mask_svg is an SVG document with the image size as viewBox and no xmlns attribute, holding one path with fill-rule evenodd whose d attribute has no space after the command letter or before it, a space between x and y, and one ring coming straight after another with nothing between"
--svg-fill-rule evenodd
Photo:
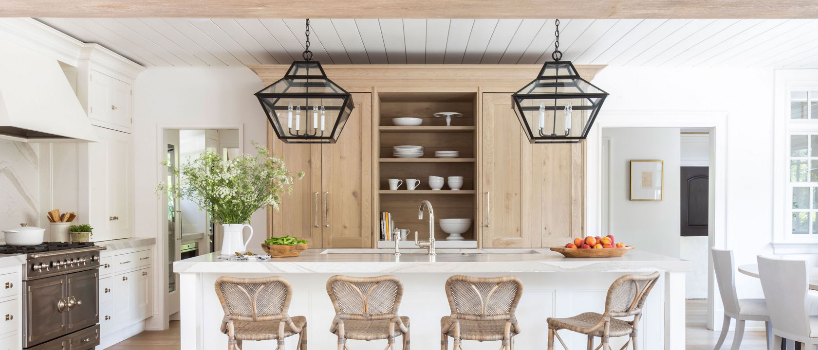
<instances>
[{"instance_id":1,"label":"light wooden floor visible around the white kitchen island","mask_svg":"<svg viewBox=\"0 0 818 350\"><path fill-rule=\"evenodd\" d=\"M718 333L707 329L708 301L687 300L686 350L712 350L718 340ZM524 336L521 334L520 336ZM733 332L727 334L722 349L729 349L733 342ZM227 346L227 343L225 343ZM108 350L181 350L179 344L179 322L171 321L169 330L145 331ZM741 350L766 350L763 331L744 332Z\"/></svg>"}]
</instances>

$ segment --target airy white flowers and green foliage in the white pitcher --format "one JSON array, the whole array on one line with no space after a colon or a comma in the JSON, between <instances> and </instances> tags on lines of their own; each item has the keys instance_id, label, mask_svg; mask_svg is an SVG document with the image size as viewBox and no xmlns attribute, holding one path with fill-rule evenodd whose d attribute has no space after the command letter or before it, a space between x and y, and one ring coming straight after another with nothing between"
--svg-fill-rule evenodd
<instances>
[{"instance_id":1,"label":"airy white flowers and green foliage in the white pitcher","mask_svg":"<svg viewBox=\"0 0 818 350\"><path fill-rule=\"evenodd\" d=\"M206 151L196 159L188 158L178 170L162 162L182 181L173 188L159 184L156 192L169 191L196 202L220 224L249 222L250 216L265 206L278 210L281 194L291 193L294 180L302 179L304 173L287 171L283 157L275 157L256 142L253 146L258 151L255 156L244 153L225 161Z\"/></svg>"}]
</instances>

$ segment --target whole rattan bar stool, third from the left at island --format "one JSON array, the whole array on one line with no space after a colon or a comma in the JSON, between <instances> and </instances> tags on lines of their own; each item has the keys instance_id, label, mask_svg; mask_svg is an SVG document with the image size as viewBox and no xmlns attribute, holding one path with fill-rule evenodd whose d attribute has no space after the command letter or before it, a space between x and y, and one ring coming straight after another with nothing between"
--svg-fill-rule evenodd
<instances>
[{"instance_id":1,"label":"whole rattan bar stool, third from the left at island","mask_svg":"<svg viewBox=\"0 0 818 350\"><path fill-rule=\"evenodd\" d=\"M446 281L446 295L452 314L440 319L441 350L448 349L449 337L455 350L463 349L463 340L501 340L501 350L514 349L515 310L523 295L519 278L456 275Z\"/></svg>"}]
</instances>

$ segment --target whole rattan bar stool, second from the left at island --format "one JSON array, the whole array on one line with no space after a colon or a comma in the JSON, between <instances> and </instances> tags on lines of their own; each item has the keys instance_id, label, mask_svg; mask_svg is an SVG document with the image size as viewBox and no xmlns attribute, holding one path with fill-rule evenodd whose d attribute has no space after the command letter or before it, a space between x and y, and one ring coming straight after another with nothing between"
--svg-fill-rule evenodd
<instances>
[{"instance_id":1,"label":"whole rattan bar stool, second from the left at island","mask_svg":"<svg viewBox=\"0 0 818 350\"><path fill-rule=\"evenodd\" d=\"M330 332L338 336L338 349L348 349L347 339L387 339L394 350L395 338L402 336L409 349L409 317L398 317L403 284L398 277L333 276L326 281L326 293L335 308Z\"/></svg>"}]
</instances>

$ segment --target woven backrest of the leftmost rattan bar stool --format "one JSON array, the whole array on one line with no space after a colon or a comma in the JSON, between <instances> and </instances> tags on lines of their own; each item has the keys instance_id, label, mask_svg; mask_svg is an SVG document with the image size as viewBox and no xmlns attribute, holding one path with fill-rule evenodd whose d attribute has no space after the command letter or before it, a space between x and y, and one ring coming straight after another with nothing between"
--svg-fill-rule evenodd
<instances>
[{"instance_id":1,"label":"woven backrest of the leftmost rattan bar stool","mask_svg":"<svg viewBox=\"0 0 818 350\"><path fill-rule=\"evenodd\" d=\"M284 277L216 279L216 295L225 317L236 321L272 321L290 309L292 287Z\"/></svg>"}]
</instances>

